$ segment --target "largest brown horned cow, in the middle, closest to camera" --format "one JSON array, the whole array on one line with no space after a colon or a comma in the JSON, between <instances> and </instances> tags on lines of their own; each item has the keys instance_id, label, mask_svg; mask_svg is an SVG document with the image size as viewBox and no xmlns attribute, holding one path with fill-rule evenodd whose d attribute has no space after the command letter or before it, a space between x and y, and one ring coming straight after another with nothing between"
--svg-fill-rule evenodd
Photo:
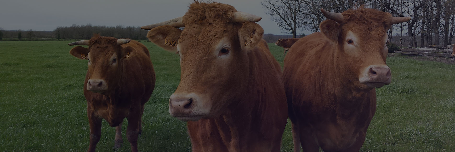
<instances>
[{"instance_id":1,"label":"largest brown horned cow, in the middle, closest to camera","mask_svg":"<svg viewBox=\"0 0 455 152\"><path fill-rule=\"evenodd\" d=\"M153 43L180 55L169 113L189 121L195 152L280 150L286 96L259 20L231 5L194 2L181 18L142 26Z\"/></svg>"}]
</instances>

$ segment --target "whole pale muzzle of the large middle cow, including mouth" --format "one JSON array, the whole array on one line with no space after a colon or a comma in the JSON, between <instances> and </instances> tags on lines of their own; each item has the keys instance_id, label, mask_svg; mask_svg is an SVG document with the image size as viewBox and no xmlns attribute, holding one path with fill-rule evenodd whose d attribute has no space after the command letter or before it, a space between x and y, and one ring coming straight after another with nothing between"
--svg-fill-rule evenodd
<instances>
[{"instance_id":1,"label":"whole pale muzzle of the large middle cow, including mouth","mask_svg":"<svg viewBox=\"0 0 455 152\"><path fill-rule=\"evenodd\" d=\"M196 93L174 93L169 98L169 113L181 121L198 121L210 113L211 107Z\"/></svg>"}]
</instances>

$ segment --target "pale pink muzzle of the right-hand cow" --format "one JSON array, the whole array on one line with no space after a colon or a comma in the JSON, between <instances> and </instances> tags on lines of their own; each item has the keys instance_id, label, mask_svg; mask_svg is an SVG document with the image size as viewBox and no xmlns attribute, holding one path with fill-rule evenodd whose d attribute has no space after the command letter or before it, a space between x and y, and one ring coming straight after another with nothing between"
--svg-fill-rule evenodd
<instances>
[{"instance_id":1,"label":"pale pink muzzle of the right-hand cow","mask_svg":"<svg viewBox=\"0 0 455 152\"><path fill-rule=\"evenodd\" d=\"M381 88L390 84L392 74L387 65L370 65L360 75L360 83L366 84L369 88Z\"/></svg>"}]
</instances>

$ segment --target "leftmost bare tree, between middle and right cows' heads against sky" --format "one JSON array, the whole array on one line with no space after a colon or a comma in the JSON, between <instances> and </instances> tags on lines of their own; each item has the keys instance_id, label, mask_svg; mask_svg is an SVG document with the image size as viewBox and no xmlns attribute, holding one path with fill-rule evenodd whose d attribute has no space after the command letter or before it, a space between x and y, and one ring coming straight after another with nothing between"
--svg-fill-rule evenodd
<instances>
[{"instance_id":1,"label":"leftmost bare tree, between middle and right cows' heads against sky","mask_svg":"<svg viewBox=\"0 0 455 152\"><path fill-rule=\"evenodd\" d=\"M284 33L296 37L297 29L303 28L304 15L300 11L303 4L299 0L264 0L261 2L267 8L267 15L277 23Z\"/></svg>"}]
</instances>

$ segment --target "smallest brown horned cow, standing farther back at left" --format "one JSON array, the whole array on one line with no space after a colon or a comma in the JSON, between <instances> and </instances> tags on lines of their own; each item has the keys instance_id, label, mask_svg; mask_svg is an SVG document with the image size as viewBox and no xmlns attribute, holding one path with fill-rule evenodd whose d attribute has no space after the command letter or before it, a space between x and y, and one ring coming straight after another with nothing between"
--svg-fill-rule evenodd
<instances>
[{"instance_id":1,"label":"smallest brown horned cow, standing farther back at left","mask_svg":"<svg viewBox=\"0 0 455 152\"><path fill-rule=\"evenodd\" d=\"M88 60L84 82L87 115L90 124L88 151L95 151L101 138L101 119L116 127L114 148L121 147L121 123L128 119L126 137L131 151L137 151L137 136L142 133L144 104L155 87L155 72L147 48L129 39L94 35L68 45L70 54Z\"/></svg>"}]
</instances>

